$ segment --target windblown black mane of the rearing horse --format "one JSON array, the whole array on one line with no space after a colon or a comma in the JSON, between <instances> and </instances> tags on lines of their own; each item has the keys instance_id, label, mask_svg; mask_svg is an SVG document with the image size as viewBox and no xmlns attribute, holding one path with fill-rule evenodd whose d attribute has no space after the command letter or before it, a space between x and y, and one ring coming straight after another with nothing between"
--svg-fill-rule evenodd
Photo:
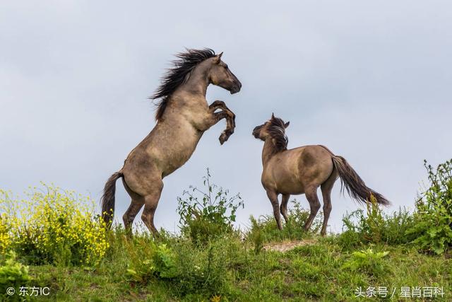
<instances>
[{"instance_id":1,"label":"windblown black mane of the rearing horse","mask_svg":"<svg viewBox=\"0 0 452 302\"><path fill-rule=\"evenodd\" d=\"M173 67L168 69L167 73L162 77L162 83L155 91L150 99L155 100L160 98L157 103L157 111L155 112L155 120L162 117L165 108L167 107L169 95L184 83L187 75L194 69L194 67L206 59L215 57L215 52L210 48L203 50L186 50L186 52L179 52L176 54L177 60L174 60Z\"/></svg>"}]
</instances>

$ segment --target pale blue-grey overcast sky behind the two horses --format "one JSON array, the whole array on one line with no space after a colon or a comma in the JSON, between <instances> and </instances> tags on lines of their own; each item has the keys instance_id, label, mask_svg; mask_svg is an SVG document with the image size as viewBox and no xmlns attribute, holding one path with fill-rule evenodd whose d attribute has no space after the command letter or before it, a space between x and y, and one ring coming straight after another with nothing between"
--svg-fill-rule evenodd
<instances>
[{"instance_id":1,"label":"pale blue-grey overcast sky behind the two horses","mask_svg":"<svg viewBox=\"0 0 452 302\"><path fill-rule=\"evenodd\" d=\"M271 213L251 130L272 112L290 121L290 148L324 144L390 210L412 208L423 159L452 157L451 29L450 1L1 1L0 187L54 182L98 200L154 127L147 97L173 54L210 47L242 81L240 93L207 95L237 128L223 146L225 122L211 128L165 178L157 228L177 230L177 196L202 185L206 167L242 194L243 226ZM339 187L332 231L358 207ZM118 181L116 219L129 202Z\"/></svg>"}]
</instances>

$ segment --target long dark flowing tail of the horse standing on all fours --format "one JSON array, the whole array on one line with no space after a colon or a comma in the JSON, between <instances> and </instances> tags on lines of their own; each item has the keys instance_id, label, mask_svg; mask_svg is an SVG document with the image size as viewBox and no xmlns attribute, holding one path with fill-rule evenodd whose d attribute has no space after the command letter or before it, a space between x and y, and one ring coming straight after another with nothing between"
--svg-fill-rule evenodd
<instances>
[{"instance_id":1,"label":"long dark flowing tail of the horse standing on all fours","mask_svg":"<svg viewBox=\"0 0 452 302\"><path fill-rule=\"evenodd\" d=\"M339 173L340 192L344 192L345 188L350 197L358 202L371 202L371 196L374 196L379 204L385 206L391 204L383 195L367 187L352 166L345 161L345 158L333 156L333 164Z\"/></svg>"}]
</instances>

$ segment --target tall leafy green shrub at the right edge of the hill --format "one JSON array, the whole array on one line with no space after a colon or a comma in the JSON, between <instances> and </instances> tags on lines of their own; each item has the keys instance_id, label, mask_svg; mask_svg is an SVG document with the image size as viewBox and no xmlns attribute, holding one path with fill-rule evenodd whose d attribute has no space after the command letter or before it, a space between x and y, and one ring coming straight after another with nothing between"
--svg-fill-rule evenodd
<instances>
[{"instance_id":1,"label":"tall leafy green shrub at the right edge of the hill","mask_svg":"<svg viewBox=\"0 0 452 302\"><path fill-rule=\"evenodd\" d=\"M452 247L452 160L427 165L429 188L416 204L415 223L408 231L413 241L427 252L442 254Z\"/></svg>"}]
</instances>

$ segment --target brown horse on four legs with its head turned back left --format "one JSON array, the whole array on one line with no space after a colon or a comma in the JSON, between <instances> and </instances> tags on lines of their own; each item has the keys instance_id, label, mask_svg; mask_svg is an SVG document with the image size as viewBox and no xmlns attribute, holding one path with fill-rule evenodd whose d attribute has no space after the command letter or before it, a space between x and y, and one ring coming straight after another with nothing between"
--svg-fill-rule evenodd
<instances>
[{"instance_id":1,"label":"brown horse on four legs with its head turned back left","mask_svg":"<svg viewBox=\"0 0 452 302\"><path fill-rule=\"evenodd\" d=\"M328 218L331 213L331 190L336 179L341 180L341 191L345 187L352 199L369 202L374 196L379 204L388 205L388 200L381 194L369 189L355 170L342 156L335 156L325 146L302 146L287 150L288 139L284 123L274 115L265 124L253 130L256 139L265 141L262 150L262 185L268 199L273 205L278 228L281 230L280 213L287 223L287 202L290 194L306 194L311 214L304 224L304 229L311 227L312 221L320 209L317 189L321 187L323 196L323 225L321 235L325 236ZM281 207L278 207L278 194L282 194Z\"/></svg>"}]
</instances>

